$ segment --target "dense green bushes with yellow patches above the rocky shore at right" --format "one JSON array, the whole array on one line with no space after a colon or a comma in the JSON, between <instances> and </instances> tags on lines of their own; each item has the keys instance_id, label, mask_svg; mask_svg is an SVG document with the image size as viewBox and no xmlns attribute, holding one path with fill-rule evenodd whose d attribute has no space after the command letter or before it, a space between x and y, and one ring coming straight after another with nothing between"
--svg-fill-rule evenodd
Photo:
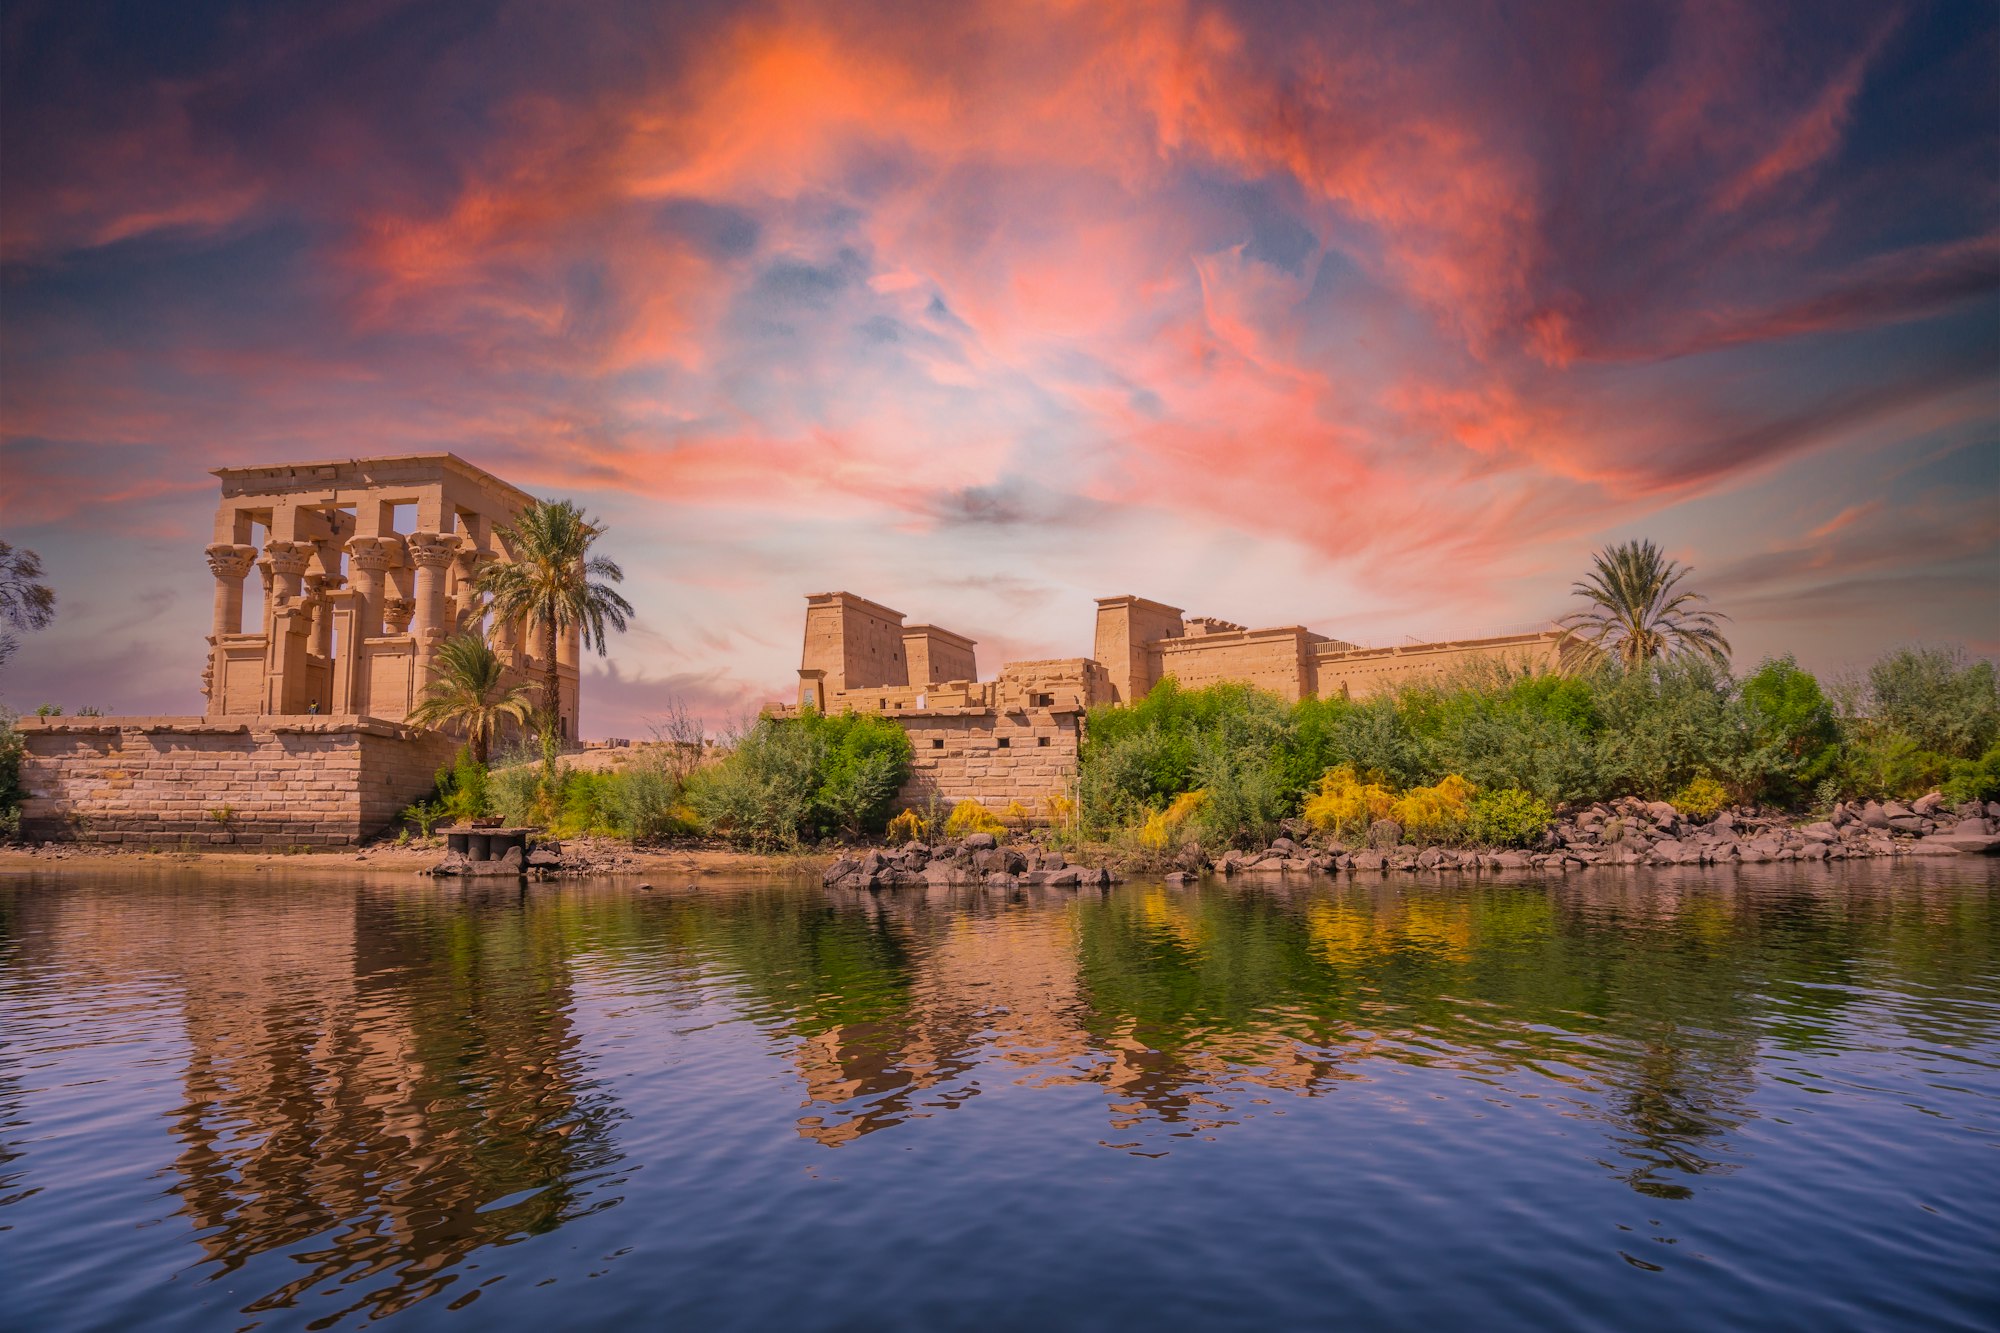
<instances>
[{"instance_id":1,"label":"dense green bushes with yellow patches above the rocky shore at right","mask_svg":"<svg viewBox=\"0 0 2000 1333\"><path fill-rule=\"evenodd\" d=\"M1792 658L1736 679L1700 652L1582 675L1482 664L1356 703L1164 681L1130 709L1092 709L1082 819L1142 843L1178 825L1206 847L1270 839L1288 817L1342 837L1394 819L1438 841L1520 843L1554 807L1612 797L1702 817L1932 789L1994 801L1996 741L1992 662L1936 648L1892 652L1832 693Z\"/></svg>"}]
</instances>

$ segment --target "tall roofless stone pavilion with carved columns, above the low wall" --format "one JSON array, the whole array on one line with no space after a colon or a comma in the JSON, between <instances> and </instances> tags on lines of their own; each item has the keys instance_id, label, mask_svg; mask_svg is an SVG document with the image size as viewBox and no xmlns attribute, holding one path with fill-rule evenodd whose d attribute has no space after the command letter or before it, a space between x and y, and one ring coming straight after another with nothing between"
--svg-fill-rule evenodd
<instances>
[{"instance_id":1,"label":"tall roofless stone pavilion with carved columns, above the low wall","mask_svg":"<svg viewBox=\"0 0 2000 1333\"><path fill-rule=\"evenodd\" d=\"M220 468L208 570L214 622L202 693L220 717L398 721L430 683L438 644L478 614L480 566L530 496L454 454ZM398 520L404 518L404 530ZM262 540L262 548L258 546ZM256 628L244 580L262 572ZM510 683L540 681L540 638L500 626ZM580 640L556 648L562 735L578 735Z\"/></svg>"}]
</instances>

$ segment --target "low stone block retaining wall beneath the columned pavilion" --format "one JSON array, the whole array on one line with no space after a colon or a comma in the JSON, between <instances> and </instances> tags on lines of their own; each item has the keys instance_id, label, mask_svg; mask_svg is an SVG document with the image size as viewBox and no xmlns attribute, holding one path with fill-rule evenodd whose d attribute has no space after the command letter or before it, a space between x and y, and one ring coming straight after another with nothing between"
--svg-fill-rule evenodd
<instances>
[{"instance_id":1,"label":"low stone block retaining wall beneath the columned pavilion","mask_svg":"<svg viewBox=\"0 0 2000 1333\"><path fill-rule=\"evenodd\" d=\"M452 763L452 737L368 717L22 719L30 843L356 847Z\"/></svg>"}]
</instances>

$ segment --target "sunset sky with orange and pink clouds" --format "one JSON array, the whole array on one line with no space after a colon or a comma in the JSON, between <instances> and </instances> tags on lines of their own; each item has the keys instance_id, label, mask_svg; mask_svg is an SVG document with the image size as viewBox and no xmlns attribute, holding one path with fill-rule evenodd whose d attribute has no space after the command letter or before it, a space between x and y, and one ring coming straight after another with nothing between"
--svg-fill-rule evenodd
<instances>
[{"instance_id":1,"label":"sunset sky with orange and pink clouds","mask_svg":"<svg viewBox=\"0 0 2000 1333\"><path fill-rule=\"evenodd\" d=\"M2000 654L2000 8L0 12L0 705L198 713L228 464L606 524L584 733L796 689L804 596L1394 644L1648 536L1738 664Z\"/></svg>"}]
</instances>

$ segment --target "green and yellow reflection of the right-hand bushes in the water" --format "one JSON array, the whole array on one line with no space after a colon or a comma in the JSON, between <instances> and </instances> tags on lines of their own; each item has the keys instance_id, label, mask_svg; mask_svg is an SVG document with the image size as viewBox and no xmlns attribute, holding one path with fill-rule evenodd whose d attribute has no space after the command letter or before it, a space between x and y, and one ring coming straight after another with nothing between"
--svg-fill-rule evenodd
<instances>
[{"instance_id":1,"label":"green and yellow reflection of the right-hand bushes in the water","mask_svg":"<svg viewBox=\"0 0 2000 1333\"><path fill-rule=\"evenodd\" d=\"M1940 941L1940 921L1896 895L1800 903L1700 889L1666 911L1656 901L1626 911L1618 899L1500 885L1296 899L1216 889L1162 905L1114 895L1080 901L1074 921L1082 1023L1106 1045L1136 1037L1158 1053L1162 1115L1180 1115L1190 1087L1212 1087L1214 1055L1246 1035L1352 1071L1344 1049L1368 1031L1368 1057L1578 1071L1580 1097L1640 1163L1634 1189L1670 1195L1678 1185L1662 1171L1724 1161L1700 1143L1746 1119L1758 1041L1812 1049L1836 1029L1852 1005L1842 985L1866 985L1846 959L1886 943L1914 977L1974 983L1992 911L1952 899ZM1772 1015L1772 993L1796 999Z\"/></svg>"}]
</instances>

